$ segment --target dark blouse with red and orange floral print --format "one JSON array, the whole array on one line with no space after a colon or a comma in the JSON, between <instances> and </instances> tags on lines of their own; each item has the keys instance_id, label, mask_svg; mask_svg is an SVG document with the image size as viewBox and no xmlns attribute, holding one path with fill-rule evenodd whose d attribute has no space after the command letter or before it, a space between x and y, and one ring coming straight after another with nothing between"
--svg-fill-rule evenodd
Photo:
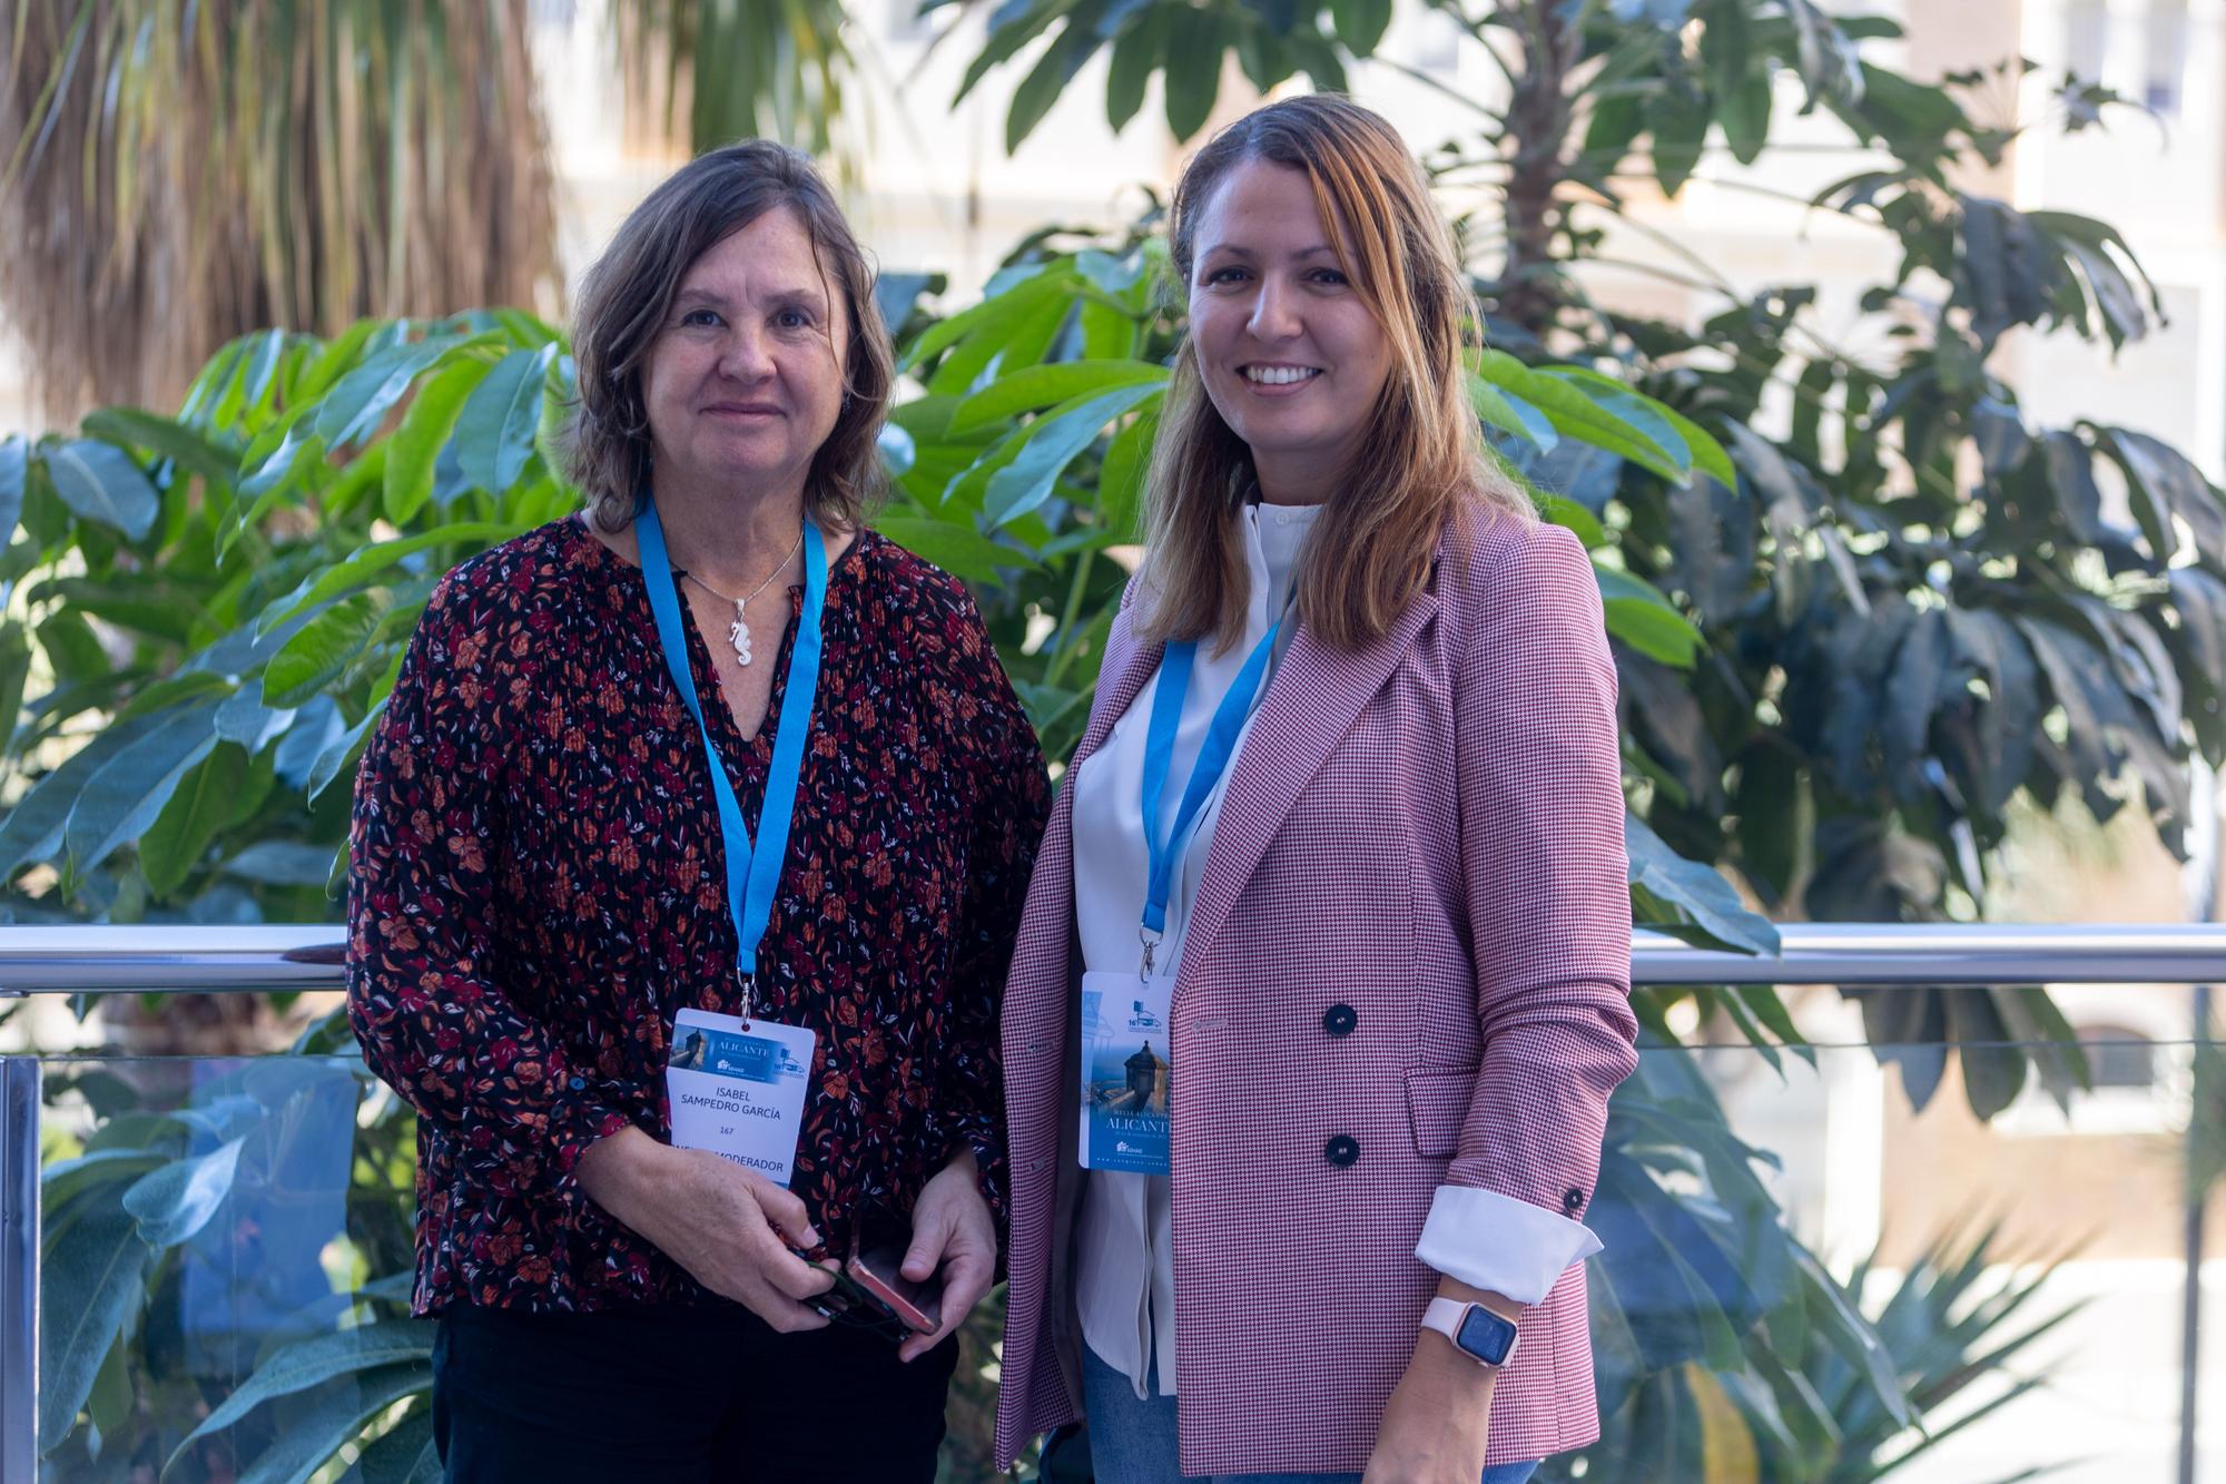
<instances>
[{"instance_id":1,"label":"dark blouse with red and orange floral print","mask_svg":"<svg viewBox=\"0 0 2226 1484\"><path fill-rule=\"evenodd\" d=\"M459 566L356 778L347 1009L418 1112L421 1315L708 1297L572 1174L630 1123L670 1136L679 1009L739 1009L703 740L643 582L579 517ZM761 651L772 709L743 740L688 622L752 831L792 642L795 624ZM837 1252L855 1210L910 1210L962 1148L1002 1219L997 1003L1046 809L1042 751L966 590L859 533L828 577L757 985L757 1014L817 1034L790 1190Z\"/></svg>"}]
</instances>

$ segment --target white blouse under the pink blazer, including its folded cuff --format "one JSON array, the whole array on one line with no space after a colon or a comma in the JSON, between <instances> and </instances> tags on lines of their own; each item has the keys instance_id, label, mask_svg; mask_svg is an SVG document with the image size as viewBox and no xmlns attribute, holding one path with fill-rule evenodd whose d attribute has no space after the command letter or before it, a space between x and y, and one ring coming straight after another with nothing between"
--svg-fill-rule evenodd
<instances>
[{"instance_id":1,"label":"white blouse under the pink blazer, including its folded cuff","mask_svg":"<svg viewBox=\"0 0 2226 1484\"><path fill-rule=\"evenodd\" d=\"M1213 653L1211 642L1198 646L1160 802L1162 833L1173 827L1213 709L1287 604L1291 573L1318 515L1320 506L1244 508L1244 562L1251 575L1244 637L1222 653ZM1271 655L1275 664L1296 628L1293 608L1275 637ZM1260 695L1273 684L1275 664L1269 666ZM1082 967L1089 972L1133 972L1142 951L1137 922L1144 914L1146 860L1144 724L1158 686L1155 673L1129 702L1129 711L1113 722L1104 744L1068 780L1075 791L1075 925L1082 938ZM1255 695L1253 715L1258 704ZM1222 793L1235 773L1244 738L1251 735L1253 715L1247 715L1229 767L1198 811L1191 838L1173 842L1180 865L1169 891L1166 936L1153 951L1158 974L1175 974L1182 967L1191 902L1198 898ZM1518 1304L1536 1304L1563 1268L1598 1250L1598 1239L1583 1223L1558 1212L1489 1190L1440 1185L1416 1257L1476 1288L1507 1295ZM1102 1361L1129 1377L1137 1397L1151 1395L1153 1370L1158 1370L1158 1395L1175 1395L1173 1205L1164 1174L1084 1170L1075 1306L1082 1317L1082 1339Z\"/></svg>"}]
</instances>

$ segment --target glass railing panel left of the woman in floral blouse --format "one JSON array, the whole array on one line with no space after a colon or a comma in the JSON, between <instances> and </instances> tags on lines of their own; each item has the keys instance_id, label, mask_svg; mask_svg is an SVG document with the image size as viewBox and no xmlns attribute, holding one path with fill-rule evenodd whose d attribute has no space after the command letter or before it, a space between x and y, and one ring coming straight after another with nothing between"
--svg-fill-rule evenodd
<instances>
[{"instance_id":1,"label":"glass railing panel left of the woman in floral blouse","mask_svg":"<svg viewBox=\"0 0 2226 1484\"><path fill-rule=\"evenodd\" d=\"M45 1480L285 1480L430 1442L412 1125L361 1061L42 1070Z\"/></svg>"}]
</instances>

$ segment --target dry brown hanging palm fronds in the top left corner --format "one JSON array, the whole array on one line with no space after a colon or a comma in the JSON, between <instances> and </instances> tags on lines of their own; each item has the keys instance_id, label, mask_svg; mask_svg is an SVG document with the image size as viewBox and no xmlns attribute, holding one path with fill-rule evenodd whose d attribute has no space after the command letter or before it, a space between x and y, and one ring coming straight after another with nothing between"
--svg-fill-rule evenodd
<instances>
[{"instance_id":1,"label":"dry brown hanging palm fronds in the top left corner","mask_svg":"<svg viewBox=\"0 0 2226 1484\"><path fill-rule=\"evenodd\" d=\"M0 0L0 310L45 412L258 325L559 307L528 0Z\"/></svg>"}]
</instances>

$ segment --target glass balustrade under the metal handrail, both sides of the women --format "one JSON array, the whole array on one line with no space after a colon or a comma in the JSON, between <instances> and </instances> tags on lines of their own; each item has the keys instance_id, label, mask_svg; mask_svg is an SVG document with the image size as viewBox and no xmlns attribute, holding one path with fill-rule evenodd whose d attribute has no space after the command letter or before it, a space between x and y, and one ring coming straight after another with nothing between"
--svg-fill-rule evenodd
<instances>
[{"instance_id":1,"label":"glass balustrade under the metal handrail, both sides of the women","mask_svg":"<svg viewBox=\"0 0 2226 1484\"><path fill-rule=\"evenodd\" d=\"M2184 989L2092 994L2188 1025ZM2128 1029L2084 1054L2081 1085L2052 1043L1649 1047L1585 1214L1605 1435L1543 1477L2175 1480L2226 1049ZM356 1058L60 1054L38 1105L40 1480L432 1466L414 1127ZM2222 1417L2226 1266L2199 1277ZM2197 1442L2226 1471L2226 1437Z\"/></svg>"}]
</instances>

